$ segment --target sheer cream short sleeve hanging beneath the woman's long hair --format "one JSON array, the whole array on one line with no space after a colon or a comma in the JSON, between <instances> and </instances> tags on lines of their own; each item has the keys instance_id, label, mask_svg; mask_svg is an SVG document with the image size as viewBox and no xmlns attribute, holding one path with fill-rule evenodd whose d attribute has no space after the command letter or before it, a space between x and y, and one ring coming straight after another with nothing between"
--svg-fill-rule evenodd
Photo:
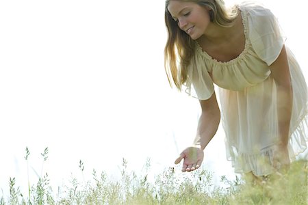
<instances>
[{"instance_id":1,"label":"sheer cream short sleeve hanging beneath the woman's long hair","mask_svg":"<svg viewBox=\"0 0 308 205\"><path fill-rule=\"evenodd\" d=\"M199 100L207 100L214 93L214 84L207 72L205 60L196 53L188 66L185 92Z\"/></svg>"}]
</instances>

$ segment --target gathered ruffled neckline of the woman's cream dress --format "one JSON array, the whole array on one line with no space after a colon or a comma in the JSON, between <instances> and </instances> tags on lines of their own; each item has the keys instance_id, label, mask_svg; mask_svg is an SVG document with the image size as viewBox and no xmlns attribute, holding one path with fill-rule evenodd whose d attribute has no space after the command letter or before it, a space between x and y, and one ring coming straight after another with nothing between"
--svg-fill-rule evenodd
<instances>
[{"instance_id":1,"label":"gathered ruffled neckline of the woman's cream dress","mask_svg":"<svg viewBox=\"0 0 308 205\"><path fill-rule=\"evenodd\" d=\"M201 45L198 44L198 42L195 41L197 51L199 53L201 53L201 55L203 55L205 58L209 59L210 61L213 61L214 64L223 64L223 65L235 64L238 60L242 59L242 57L247 53L247 50L248 50L248 34L247 34L247 25L246 25L246 13L242 8L240 8L240 5L236 5L236 6L237 6L238 10L240 10L240 15L242 17L242 25L244 27L244 36L245 36L244 49L240 53L240 55L238 55L238 57L235 57L235 58L233 58L229 61L218 61L214 57L211 57L211 55L209 55L206 51L203 51Z\"/></svg>"}]
</instances>

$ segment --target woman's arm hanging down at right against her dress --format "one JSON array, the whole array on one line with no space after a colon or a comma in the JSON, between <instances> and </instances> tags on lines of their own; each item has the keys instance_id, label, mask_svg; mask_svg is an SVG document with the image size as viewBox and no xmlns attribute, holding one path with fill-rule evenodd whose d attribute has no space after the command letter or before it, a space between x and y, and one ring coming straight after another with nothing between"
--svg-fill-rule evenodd
<instances>
[{"instance_id":1,"label":"woman's arm hanging down at right against her dress","mask_svg":"<svg viewBox=\"0 0 308 205\"><path fill-rule=\"evenodd\" d=\"M280 156L274 157L281 165L290 164L287 144L289 141L290 120L292 115L292 82L285 46L279 57L270 65L271 76L277 85L277 117L279 129L278 151ZM278 157L278 158L277 158ZM279 167L278 167L279 168Z\"/></svg>"}]
</instances>

